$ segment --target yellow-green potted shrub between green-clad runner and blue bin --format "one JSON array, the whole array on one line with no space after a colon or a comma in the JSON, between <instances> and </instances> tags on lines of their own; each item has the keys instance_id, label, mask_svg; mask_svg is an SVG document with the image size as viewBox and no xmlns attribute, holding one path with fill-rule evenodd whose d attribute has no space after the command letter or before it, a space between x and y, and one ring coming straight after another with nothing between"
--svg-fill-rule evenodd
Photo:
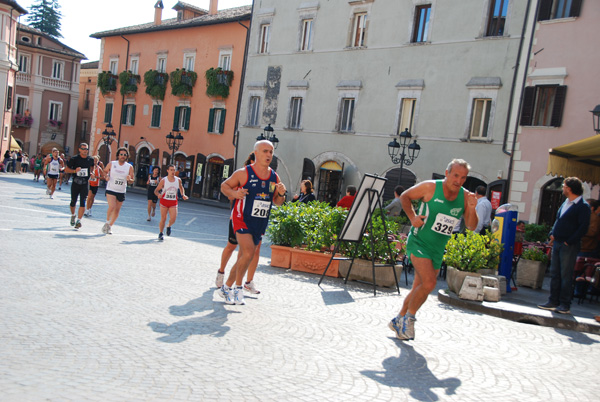
<instances>
[{"instance_id":1,"label":"yellow-green potted shrub between green-clad runner and blue bin","mask_svg":"<svg viewBox=\"0 0 600 402\"><path fill-rule=\"evenodd\" d=\"M450 291L458 294L464 279L467 276L481 276L481 269L496 269L503 248L491 235L480 235L470 230L452 235L444 254Z\"/></svg>"}]
</instances>

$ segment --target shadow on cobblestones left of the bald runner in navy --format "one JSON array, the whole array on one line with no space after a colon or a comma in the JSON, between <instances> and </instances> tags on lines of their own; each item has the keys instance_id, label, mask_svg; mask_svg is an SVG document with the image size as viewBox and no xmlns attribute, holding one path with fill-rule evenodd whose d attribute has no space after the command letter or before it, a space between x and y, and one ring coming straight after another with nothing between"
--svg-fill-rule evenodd
<instances>
[{"instance_id":1,"label":"shadow on cobblestones left of the bald runner in navy","mask_svg":"<svg viewBox=\"0 0 600 402\"><path fill-rule=\"evenodd\" d=\"M227 315L239 311L225 309L224 303L213 302L215 289L208 289L197 299L190 300L183 306L171 306L169 312L176 317L190 316L195 313L211 311L208 315L177 321L172 324L159 322L148 323L148 326L157 333L165 334L157 340L166 343L179 343L187 340L192 335L209 335L214 337L225 336L229 327L224 325Z\"/></svg>"}]
</instances>

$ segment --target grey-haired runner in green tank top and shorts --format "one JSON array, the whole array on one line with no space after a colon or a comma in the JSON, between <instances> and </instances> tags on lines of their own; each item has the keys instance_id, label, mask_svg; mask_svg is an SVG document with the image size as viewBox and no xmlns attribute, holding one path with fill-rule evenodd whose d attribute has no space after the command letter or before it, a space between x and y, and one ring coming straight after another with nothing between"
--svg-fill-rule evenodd
<instances>
[{"instance_id":1,"label":"grey-haired runner in green tank top and shorts","mask_svg":"<svg viewBox=\"0 0 600 402\"><path fill-rule=\"evenodd\" d=\"M446 244L461 216L469 230L477 227L477 198L462 185L471 167L462 159L453 159L444 180L428 180L409 188L400 196L402 208L410 219L406 255L415 267L415 280L398 316L389 327L402 340L415 338L415 314L427 300L437 280ZM418 213L412 201L418 200Z\"/></svg>"}]
</instances>

